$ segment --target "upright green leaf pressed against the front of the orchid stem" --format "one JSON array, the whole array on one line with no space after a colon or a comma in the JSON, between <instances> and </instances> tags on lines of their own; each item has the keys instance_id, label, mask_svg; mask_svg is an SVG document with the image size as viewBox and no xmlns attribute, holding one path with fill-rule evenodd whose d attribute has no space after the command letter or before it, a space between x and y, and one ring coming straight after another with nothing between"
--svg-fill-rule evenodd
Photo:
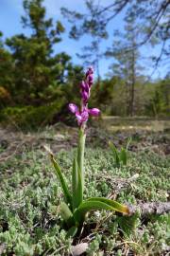
<instances>
[{"instance_id":1,"label":"upright green leaf pressed against the front of the orchid stem","mask_svg":"<svg viewBox=\"0 0 170 256\"><path fill-rule=\"evenodd\" d=\"M73 172L72 172L72 192L73 192L73 210L75 210L81 203L83 199L81 174L79 167L77 165L76 158L74 159Z\"/></svg>"}]
</instances>

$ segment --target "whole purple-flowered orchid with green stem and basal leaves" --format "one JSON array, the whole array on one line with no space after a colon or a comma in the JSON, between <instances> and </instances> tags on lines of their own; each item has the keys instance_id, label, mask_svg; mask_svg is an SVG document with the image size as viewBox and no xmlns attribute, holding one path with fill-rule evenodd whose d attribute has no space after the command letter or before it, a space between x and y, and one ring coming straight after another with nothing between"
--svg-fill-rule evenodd
<instances>
[{"instance_id":1,"label":"whole purple-flowered orchid with green stem and basal leaves","mask_svg":"<svg viewBox=\"0 0 170 256\"><path fill-rule=\"evenodd\" d=\"M70 188L66 181L64 174L61 172L59 163L54 158L53 153L48 151L51 161L59 178L60 186L64 195L64 202L60 205L60 214L67 224L68 235L74 236L78 229L82 228L86 213L90 210L112 210L128 214L128 208L116 201L104 197L83 198L84 191L84 151L86 140L86 123L90 116L97 117L100 110L97 108L88 108L88 101L91 96L91 89L93 86L93 68L89 67L85 80L80 82L80 106L74 103L69 104L69 110L76 116L78 125L78 143L77 152L73 161L72 169L72 188Z\"/></svg>"}]
</instances>

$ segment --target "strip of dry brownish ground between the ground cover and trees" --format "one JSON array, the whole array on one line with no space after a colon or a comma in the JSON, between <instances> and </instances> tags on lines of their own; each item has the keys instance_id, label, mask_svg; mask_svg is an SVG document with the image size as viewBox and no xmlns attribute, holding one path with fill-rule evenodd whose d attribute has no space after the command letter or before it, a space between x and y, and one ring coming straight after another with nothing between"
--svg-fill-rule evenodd
<instances>
[{"instance_id":1,"label":"strip of dry brownish ground between the ground cover and trees","mask_svg":"<svg viewBox=\"0 0 170 256\"><path fill-rule=\"evenodd\" d=\"M152 150L160 155L170 154L170 133L129 130L115 133L96 127L87 129L87 144L90 147L108 148L109 140L113 141L116 147L121 147L126 144L128 137L132 137L130 151ZM49 145L54 152L69 150L76 147L76 141L77 128L63 124L33 133L0 128L0 162L26 150L42 149L44 144Z\"/></svg>"}]
</instances>

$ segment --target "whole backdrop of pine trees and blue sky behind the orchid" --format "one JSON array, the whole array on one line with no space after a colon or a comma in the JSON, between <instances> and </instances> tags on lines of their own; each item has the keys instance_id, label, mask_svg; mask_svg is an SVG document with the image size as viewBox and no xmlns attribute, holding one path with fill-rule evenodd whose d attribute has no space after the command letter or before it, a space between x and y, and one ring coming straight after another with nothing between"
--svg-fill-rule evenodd
<instances>
[{"instance_id":1,"label":"whole backdrop of pine trees and blue sky behind the orchid","mask_svg":"<svg viewBox=\"0 0 170 256\"><path fill-rule=\"evenodd\" d=\"M70 123L67 104L77 101L88 65L95 70L90 104L102 115L169 117L169 0L24 0L20 21L9 17L15 1L0 2L2 123Z\"/></svg>"}]
</instances>

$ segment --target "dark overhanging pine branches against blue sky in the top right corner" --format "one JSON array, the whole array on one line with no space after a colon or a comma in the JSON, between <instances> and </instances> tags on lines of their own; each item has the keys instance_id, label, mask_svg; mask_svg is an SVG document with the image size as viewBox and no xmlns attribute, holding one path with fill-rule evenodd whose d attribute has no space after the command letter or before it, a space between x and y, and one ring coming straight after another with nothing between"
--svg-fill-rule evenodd
<instances>
[{"instance_id":1,"label":"dark overhanging pine branches against blue sky in the top right corner","mask_svg":"<svg viewBox=\"0 0 170 256\"><path fill-rule=\"evenodd\" d=\"M84 31L92 33L92 27L98 35L103 38L107 34L107 27L110 22L124 12L124 17L134 17L140 31L140 40L135 46L160 45L161 49L153 58L154 70L161 62L170 64L170 0L114 0L110 4L101 3L95 0L85 0L93 11L86 13L62 9L74 26L71 34L81 36ZM153 73L154 73L153 70Z\"/></svg>"}]
</instances>

